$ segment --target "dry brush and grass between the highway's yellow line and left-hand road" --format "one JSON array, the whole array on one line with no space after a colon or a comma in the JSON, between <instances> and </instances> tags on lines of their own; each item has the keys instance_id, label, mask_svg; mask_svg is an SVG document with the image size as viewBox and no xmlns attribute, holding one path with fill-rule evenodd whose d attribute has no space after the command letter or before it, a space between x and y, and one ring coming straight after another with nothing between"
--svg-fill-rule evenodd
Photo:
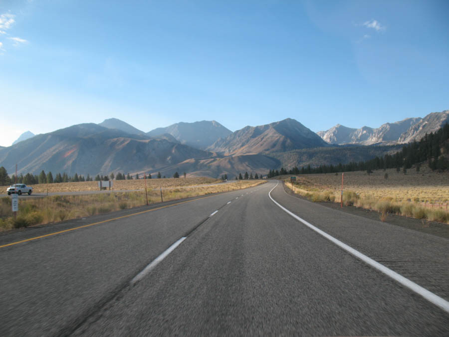
<instances>
[{"instance_id":1,"label":"dry brush and grass between the highway's yellow line and left-hand road","mask_svg":"<svg viewBox=\"0 0 449 337\"><path fill-rule=\"evenodd\" d=\"M163 190L164 201L179 200L201 195L229 192L264 183L244 180L223 185L177 187ZM159 190L148 191L148 202L161 201ZM104 194L50 196L40 199L20 200L19 211L14 219L11 198L0 198L0 231L12 228L48 224L103 214L146 204L145 192L111 192Z\"/></svg>"}]
</instances>

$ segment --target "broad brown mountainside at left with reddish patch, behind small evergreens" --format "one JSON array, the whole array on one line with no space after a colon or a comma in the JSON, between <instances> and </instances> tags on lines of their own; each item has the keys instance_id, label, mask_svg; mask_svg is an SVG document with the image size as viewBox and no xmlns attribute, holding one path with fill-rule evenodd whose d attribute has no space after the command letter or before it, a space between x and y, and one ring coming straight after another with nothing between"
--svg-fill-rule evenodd
<instances>
[{"instance_id":1,"label":"broad brown mountainside at left with reddish patch, behind small evergreens","mask_svg":"<svg viewBox=\"0 0 449 337\"><path fill-rule=\"evenodd\" d=\"M0 166L10 173L41 170L84 174L152 170L212 153L166 139L148 139L97 124L78 124L40 134L0 149Z\"/></svg>"}]
</instances>

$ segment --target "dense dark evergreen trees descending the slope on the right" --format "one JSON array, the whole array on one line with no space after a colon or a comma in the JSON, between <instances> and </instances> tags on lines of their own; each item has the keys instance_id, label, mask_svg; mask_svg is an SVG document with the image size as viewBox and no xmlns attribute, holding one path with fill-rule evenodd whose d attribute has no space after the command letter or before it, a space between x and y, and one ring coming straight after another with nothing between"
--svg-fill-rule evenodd
<instances>
[{"instance_id":1,"label":"dense dark evergreen trees descending the slope on the right","mask_svg":"<svg viewBox=\"0 0 449 337\"><path fill-rule=\"evenodd\" d=\"M402 150L393 155L386 154L384 157L375 157L374 159L350 162L348 164L338 165L320 165L318 167L294 167L286 170L283 167L280 170L270 170L268 178L284 174L310 174L310 173L336 173L336 172L351 172L351 171L367 171L368 174L372 170L396 168L399 172L401 169L404 173L412 165L427 162L432 170L447 170L449 169L449 124L446 123L438 131L426 134L419 142L404 145Z\"/></svg>"}]
</instances>

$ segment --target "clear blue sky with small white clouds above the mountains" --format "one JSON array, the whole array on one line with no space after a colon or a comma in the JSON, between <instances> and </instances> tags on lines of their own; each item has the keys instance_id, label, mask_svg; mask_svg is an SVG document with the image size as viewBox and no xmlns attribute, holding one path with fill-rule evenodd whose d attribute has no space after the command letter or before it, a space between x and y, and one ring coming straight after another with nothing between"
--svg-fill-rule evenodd
<instances>
[{"instance_id":1,"label":"clear blue sky with small white clouds above the mountains","mask_svg":"<svg viewBox=\"0 0 449 337\"><path fill-rule=\"evenodd\" d=\"M449 109L449 1L0 1L0 145L116 117L313 131Z\"/></svg>"}]
</instances>

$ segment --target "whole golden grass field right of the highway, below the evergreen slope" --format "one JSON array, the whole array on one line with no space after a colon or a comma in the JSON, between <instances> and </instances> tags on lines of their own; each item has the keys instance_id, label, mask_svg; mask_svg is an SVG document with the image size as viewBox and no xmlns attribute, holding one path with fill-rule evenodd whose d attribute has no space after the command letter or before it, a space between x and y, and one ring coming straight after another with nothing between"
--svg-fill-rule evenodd
<instances>
[{"instance_id":1,"label":"whole golden grass field right of the highway, below the evergreen slope","mask_svg":"<svg viewBox=\"0 0 449 337\"><path fill-rule=\"evenodd\" d=\"M404 174L395 169L345 172L343 201L381 212L412 216L449 223L449 172L420 172L412 168ZM387 175L387 179L385 177ZM295 193L312 201L340 202L341 173L299 175L293 185ZM283 176L288 187L290 176Z\"/></svg>"}]
</instances>

